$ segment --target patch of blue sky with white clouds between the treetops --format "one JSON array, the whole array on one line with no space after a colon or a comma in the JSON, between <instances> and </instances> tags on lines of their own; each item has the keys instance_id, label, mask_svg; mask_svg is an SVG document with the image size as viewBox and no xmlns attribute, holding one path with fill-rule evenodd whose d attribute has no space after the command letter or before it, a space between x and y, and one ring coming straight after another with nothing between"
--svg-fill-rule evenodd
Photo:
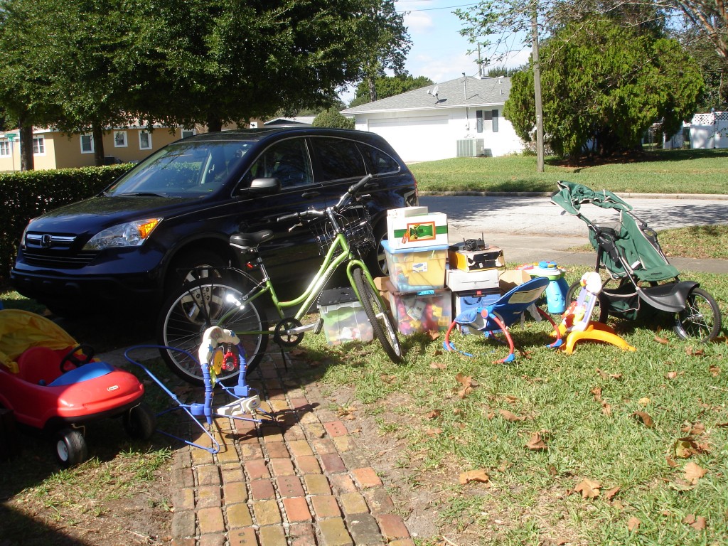
<instances>
[{"instance_id":1,"label":"patch of blue sky with white clouds between the treetops","mask_svg":"<svg viewBox=\"0 0 728 546\"><path fill-rule=\"evenodd\" d=\"M405 68L412 76L426 76L435 83L447 82L459 78L464 72L467 76L478 75L478 65L475 64L478 55L467 55L471 44L466 38L460 36L462 23L454 15L458 8L468 9L475 6L475 2L467 0L397 0L397 12L405 14L407 26L412 39L412 48L407 57ZM523 42L518 38L508 40L510 50L513 52L507 60L494 66L515 67L528 62L530 48L524 48ZM481 52L486 58L494 52ZM342 95L347 102L354 98L353 90Z\"/></svg>"}]
</instances>

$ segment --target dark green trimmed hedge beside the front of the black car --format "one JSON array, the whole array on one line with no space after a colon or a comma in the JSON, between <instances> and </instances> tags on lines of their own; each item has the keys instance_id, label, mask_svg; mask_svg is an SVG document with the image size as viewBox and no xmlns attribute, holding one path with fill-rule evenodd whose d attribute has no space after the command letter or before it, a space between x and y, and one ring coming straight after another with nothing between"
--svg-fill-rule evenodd
<instances>
[{"instance_id":1,"label":"dark green trimmed hedge beside the front of the black car","mask_svg":"<svg viewBox=\"0 0 728 546\"><path fill-rule=\"evenodd\" d=\"M0 287L7 287L17 245L31 218L92 197L133 165L0 173Z\"/></svg>"}]
</instances>

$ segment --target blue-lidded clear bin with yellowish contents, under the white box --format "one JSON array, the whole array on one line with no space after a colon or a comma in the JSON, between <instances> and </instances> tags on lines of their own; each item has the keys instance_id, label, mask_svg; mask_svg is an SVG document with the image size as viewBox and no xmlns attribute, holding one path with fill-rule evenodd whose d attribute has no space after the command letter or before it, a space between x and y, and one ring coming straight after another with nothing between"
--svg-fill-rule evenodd
<instances>
[{"instance_id":1,"label":"blue-lidded clear bin with yellowish contents, under the white box","mask_svg":"<svg viewBox=\"0 0 728 546\"><path fill-rule=\"evenodd\" d=\"M396 292L419 292L445 287L448 246L392 248L382 241L389 280Z\"/></svg>"}]
</instances>

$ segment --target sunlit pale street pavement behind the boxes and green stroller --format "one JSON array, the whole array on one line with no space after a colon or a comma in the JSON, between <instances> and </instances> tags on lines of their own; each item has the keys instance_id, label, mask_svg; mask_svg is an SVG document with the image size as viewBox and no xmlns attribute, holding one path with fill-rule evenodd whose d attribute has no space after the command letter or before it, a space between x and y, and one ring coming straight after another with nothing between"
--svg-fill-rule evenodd
<instances>
[{"instance_id":1,"label":"sunlit pale street pavement behind the boxes and green stroller","mask_svg":"<svg viewBox=\"0 0 728 546\"><path fill-rule=\"evenodd\" d=\"M618 194L633 213L657 231L685 226L728 224L728 196L646 197ZM564 212L550 197L421 195L420 205L448 215L451 243L483 237L504 250L506 261L529 264L541 260L561 265L594 265L596 253L569 250L588 244L587 225ZM611 210L582 207L590 220L609 225ZM727 273L728 261L670 258L681 271Z\"/></svg>"}]
</instances>

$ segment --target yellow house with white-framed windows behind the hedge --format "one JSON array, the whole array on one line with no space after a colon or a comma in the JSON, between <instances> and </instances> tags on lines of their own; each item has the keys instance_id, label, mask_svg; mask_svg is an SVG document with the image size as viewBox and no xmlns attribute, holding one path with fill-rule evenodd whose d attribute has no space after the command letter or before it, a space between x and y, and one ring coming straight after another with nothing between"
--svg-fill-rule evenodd
<instances>
[{"instance_id":1,"label":"yellow house with white-framed windows behind the hedge","mask_svg":"<svg viewBox=\"0 0 728 546\"><path fill-rule=\"evenodd\" d=\"M155 125L151 131L147 127L108 130L103 135L103 153L109 163L137 162L162 146L197 132L161 125ZM37 170L93 166L93 136L34 127L33 163ZM0 173L15 170L20 170L20 132L0 132Z\"/></svg>"}]
</instances>

